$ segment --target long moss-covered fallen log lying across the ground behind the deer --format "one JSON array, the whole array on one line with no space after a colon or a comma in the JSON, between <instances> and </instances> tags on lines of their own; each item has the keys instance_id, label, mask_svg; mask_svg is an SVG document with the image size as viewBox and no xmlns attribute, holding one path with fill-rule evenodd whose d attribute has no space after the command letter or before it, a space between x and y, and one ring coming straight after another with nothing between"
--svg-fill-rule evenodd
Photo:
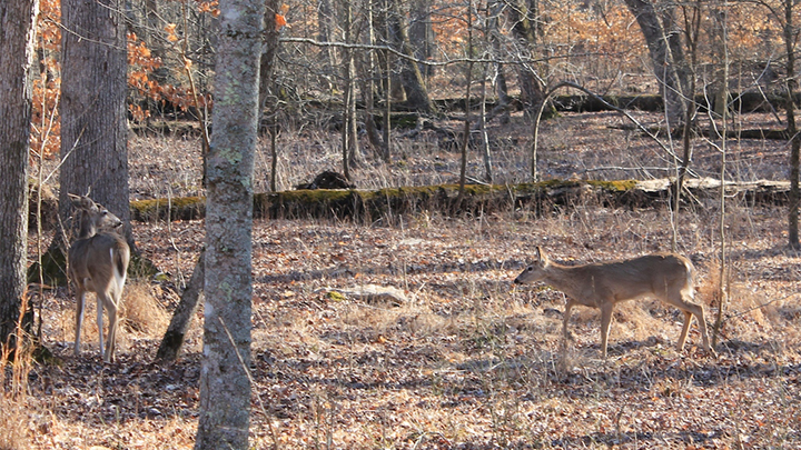
<instances>
[{"instance_id":1,"label":"long moss-covered fallen log lying across the ground behind the deer","mask_svg":"<svg viewBox=\"0 0 801 450\"><path fill-rule=\"evenodd\" d=\"M704 207L720 196L720 181L691 179L684 183L685 202ZM365 223L436 211L444 216L476 216L528 209L537 214L574 206L597 204L607 208L662 208L673 190L672 179L647 181L548 180L514 186L468 184L459 196L456 184L438 184L378 190L295 190L258 193L254 197L254 218L337 219ZM790 183L754 181L726 183L726 196L748 204L785 206ZM169 208L168 208L169 204ZM205 199L182 198L131 202L135 220L200 219Z\"/></svg>"}]
</instances>

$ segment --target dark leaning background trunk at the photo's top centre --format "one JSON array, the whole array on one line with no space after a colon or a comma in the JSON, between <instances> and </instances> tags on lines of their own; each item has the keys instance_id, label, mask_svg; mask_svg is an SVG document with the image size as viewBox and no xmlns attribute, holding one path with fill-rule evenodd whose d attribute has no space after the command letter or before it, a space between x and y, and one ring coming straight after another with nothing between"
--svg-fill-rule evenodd
<instances>
[{"instance_id":1,"label":"dark leaning background trunk at the photo's top centre","mask_svg":"<svg viewBox=\"0 0 801 450\"><path fill-rule=\"evenodd\" d=\"M389 39L398 51L408 58L414 58L414 51L412 50L408 34L406 33L406 21L398 4L399 0L389 0ZM400 82L406 92L406 102L412 110L431 112L434 110L434 107L428 97L423 76L417 64L408 58L400 58L398 60L400 64Z\"/></svg>"}]
</instances>

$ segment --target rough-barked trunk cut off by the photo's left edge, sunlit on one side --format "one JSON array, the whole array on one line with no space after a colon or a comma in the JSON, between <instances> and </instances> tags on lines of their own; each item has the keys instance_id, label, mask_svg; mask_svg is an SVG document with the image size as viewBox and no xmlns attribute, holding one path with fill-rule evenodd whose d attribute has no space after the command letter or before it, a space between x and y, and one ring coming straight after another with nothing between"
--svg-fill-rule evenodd
<instances>
[{"instance_id":1,"label":"rough-barked trunk cut off by the photo's left edge, sunlit on one side","mask_svg":"<svg viewBox=\"0 0 801 450\"><path fill-rule=\"evenodd\" d=\"M28 70L38 10L38 0L0 4L0 349L9 351L17 346L26 288L31 127Z\"/></svg>"}]
</instances>

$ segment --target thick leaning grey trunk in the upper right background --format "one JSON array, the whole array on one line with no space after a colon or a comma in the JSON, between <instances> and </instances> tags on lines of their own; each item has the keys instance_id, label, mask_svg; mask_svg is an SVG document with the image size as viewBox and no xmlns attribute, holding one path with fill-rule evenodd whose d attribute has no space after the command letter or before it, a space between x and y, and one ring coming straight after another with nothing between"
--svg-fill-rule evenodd
<instances>
[{"instance_id":1,"label":"thick leaning grey trunk in the upper right background","mask_svg":"<svg viewBox=\"0 0 801 450\"><path fill-rule=\"evenodd\" d=\"M654 74L660 83L660 93L664 98L670 127L681 127L685 117L684 87L688 86L688 82L681 77L684 73L683 69L680 69L684 66L683 52L674 51L674 49L681 49L681 46L676 43L680 34L671 33L671 39L668 39L668 33L665 33L660 16L651 0L625 0L625 3L634 14L647 43ZM664 17L672 18L671 14Z\"/></svg>"}]
</instances>

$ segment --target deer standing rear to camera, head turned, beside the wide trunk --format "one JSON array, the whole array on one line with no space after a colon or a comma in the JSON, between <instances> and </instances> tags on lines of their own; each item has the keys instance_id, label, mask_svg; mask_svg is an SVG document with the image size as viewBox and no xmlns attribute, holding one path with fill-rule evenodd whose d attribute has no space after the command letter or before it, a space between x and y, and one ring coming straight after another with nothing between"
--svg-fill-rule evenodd
<instances>
[{"instance_id":1,"label":"deer standing rear to camera, head turned, beside the wide trunk","mask_svg":"<svg viewBox=\"0 0 801 450\"><path fill-rule=\"evenodd\" d=\"M122 221L88 196L69 194L78 211L80 231L68 252L69 277L76 288L75 354L80 356L80 333L87 292L97 297L97 322L100 336L100 356L103 362L113 362L117 341L117 312L122 297L130 260L128 243L113 230ZM111 230L111 231L108 231ZM102 313L109 318L108 340L103 351Z\"/></svg>"}]
</instances>

